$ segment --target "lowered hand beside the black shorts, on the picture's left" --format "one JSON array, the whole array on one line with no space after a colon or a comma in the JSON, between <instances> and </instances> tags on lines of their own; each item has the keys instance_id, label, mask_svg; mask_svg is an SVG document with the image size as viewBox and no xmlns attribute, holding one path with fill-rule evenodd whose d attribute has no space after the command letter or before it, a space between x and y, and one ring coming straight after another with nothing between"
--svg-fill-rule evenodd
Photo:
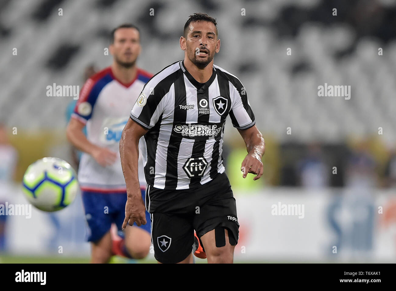
<instances>
[{"instance_id":1,"label":"lowered hand beside the black shorts, on the picture's left","mask_svg":"<svg viewBox=\"0 0 396 291\"><path fill-rule=\"evenodd\" d=\"M127 224L132 226L134 222L136 222L137 226L146 224L147 221L145 211L146 208L140 192L139 195L128 196L125 204L125 219L124 223L122 224L122 229L124 230Z\"/></svg>"}]
</instances>

